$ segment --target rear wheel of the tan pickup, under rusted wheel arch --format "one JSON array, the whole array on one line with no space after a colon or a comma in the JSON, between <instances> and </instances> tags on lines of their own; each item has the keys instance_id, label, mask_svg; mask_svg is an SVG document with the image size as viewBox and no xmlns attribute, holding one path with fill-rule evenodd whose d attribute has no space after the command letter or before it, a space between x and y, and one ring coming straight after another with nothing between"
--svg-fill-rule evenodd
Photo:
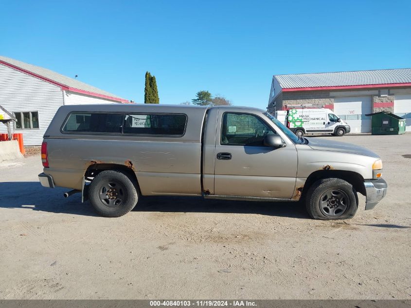
<instances>
[{"instance_id":1,"label":"rear wheel of the tan pickup, under rusted wheel arch","mask_svg":"<svg viewBox=\"0 0 411 308\"><path fill-rule=\"evenodd\" d=\"M120 171L102 171L91 181L89 200L101 216L120 217L136 206L136 187L137 182Z\"/></svg>"}]
</instances>

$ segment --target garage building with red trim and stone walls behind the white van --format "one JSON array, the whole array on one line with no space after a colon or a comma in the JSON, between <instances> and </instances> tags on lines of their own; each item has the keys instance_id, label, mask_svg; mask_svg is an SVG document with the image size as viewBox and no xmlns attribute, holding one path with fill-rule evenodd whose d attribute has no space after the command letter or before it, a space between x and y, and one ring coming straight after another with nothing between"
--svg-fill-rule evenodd
<instances>
[{"instance_id":1,"label":"garage building with red trim and stone walls behind the white van","mask_svg":"<svg viewBox=\"0 0 411 308\"><path fill-rule=\"evenodd\" d=\"M274 75L268 111L328 108L351 126L371 132L365 114L391 111L406 119L411 131L411 69Z\"/></svg>"}]
</instances>

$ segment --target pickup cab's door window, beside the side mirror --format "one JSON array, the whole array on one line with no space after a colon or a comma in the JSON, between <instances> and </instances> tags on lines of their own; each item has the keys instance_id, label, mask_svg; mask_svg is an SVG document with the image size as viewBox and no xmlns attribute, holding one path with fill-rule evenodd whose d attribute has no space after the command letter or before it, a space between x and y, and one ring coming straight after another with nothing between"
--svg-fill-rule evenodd
<instances>
[{"instance_id":1,"label":"pickup cab's door window, beside the side mirror","mask_svg":"<svg viewBox=\"0 0 411 308\"><path fill-rule=\"evenodd\" d=\"M259 117L249 113L226 112L221 126L221 145L262 146L264 137L276 132Z\"/></svg>"}]
</instances>

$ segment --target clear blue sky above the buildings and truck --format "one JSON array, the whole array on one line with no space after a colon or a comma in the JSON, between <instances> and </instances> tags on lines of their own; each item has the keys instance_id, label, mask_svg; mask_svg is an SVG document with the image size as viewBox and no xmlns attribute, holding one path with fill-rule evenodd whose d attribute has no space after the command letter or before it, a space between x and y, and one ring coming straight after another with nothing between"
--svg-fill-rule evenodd
<instances>
[{"instance_id":1,"label":"clear blue sky above the buildings and truck","mask_svg":"<svg viewBox=\"0 0 411 308\"><path fill-rule=\"evenodd\" d=\"M411 1L0 0L0 54L143 102L265 109L273 74L411 67Z\"/></svg>"}]
</instances>

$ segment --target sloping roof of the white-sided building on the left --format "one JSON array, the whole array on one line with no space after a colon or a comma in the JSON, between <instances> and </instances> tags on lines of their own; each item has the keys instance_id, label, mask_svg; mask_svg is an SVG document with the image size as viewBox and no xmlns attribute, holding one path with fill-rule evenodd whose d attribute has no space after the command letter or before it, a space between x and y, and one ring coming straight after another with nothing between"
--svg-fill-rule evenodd
<instances>
[{"instance_id":1,"label":"sloping roof of the white-sided building on the left","mask_svg":"<svg viewBox=\"0 0 411 308\"><path fill-rule=\"evenodd\" d=\"M5 64L10 64L12 67L21 69L24 72L32 73L33 75L36 75L38 77L43 77L44 80L54 82L55 84L59 86L65 86L66 88L68 88L67 90L69 91L76 92L76 90L80 90L82 93L88 94L91 96L93 96L94 94L98 94L95 96L103 97L103 98L104 97L112 98L112 99L117 99L119 101L125 101L125 102L128 101L110 92L90 86L87 83L78 81L76 79L64 76L57 72L53 72L51 70L48 70L48 69L45 69L45 68L42 68L36 65L24 63L24 62L0 55L0 63L1 62L4 62Z\"/></svg>"}]
</instances>

